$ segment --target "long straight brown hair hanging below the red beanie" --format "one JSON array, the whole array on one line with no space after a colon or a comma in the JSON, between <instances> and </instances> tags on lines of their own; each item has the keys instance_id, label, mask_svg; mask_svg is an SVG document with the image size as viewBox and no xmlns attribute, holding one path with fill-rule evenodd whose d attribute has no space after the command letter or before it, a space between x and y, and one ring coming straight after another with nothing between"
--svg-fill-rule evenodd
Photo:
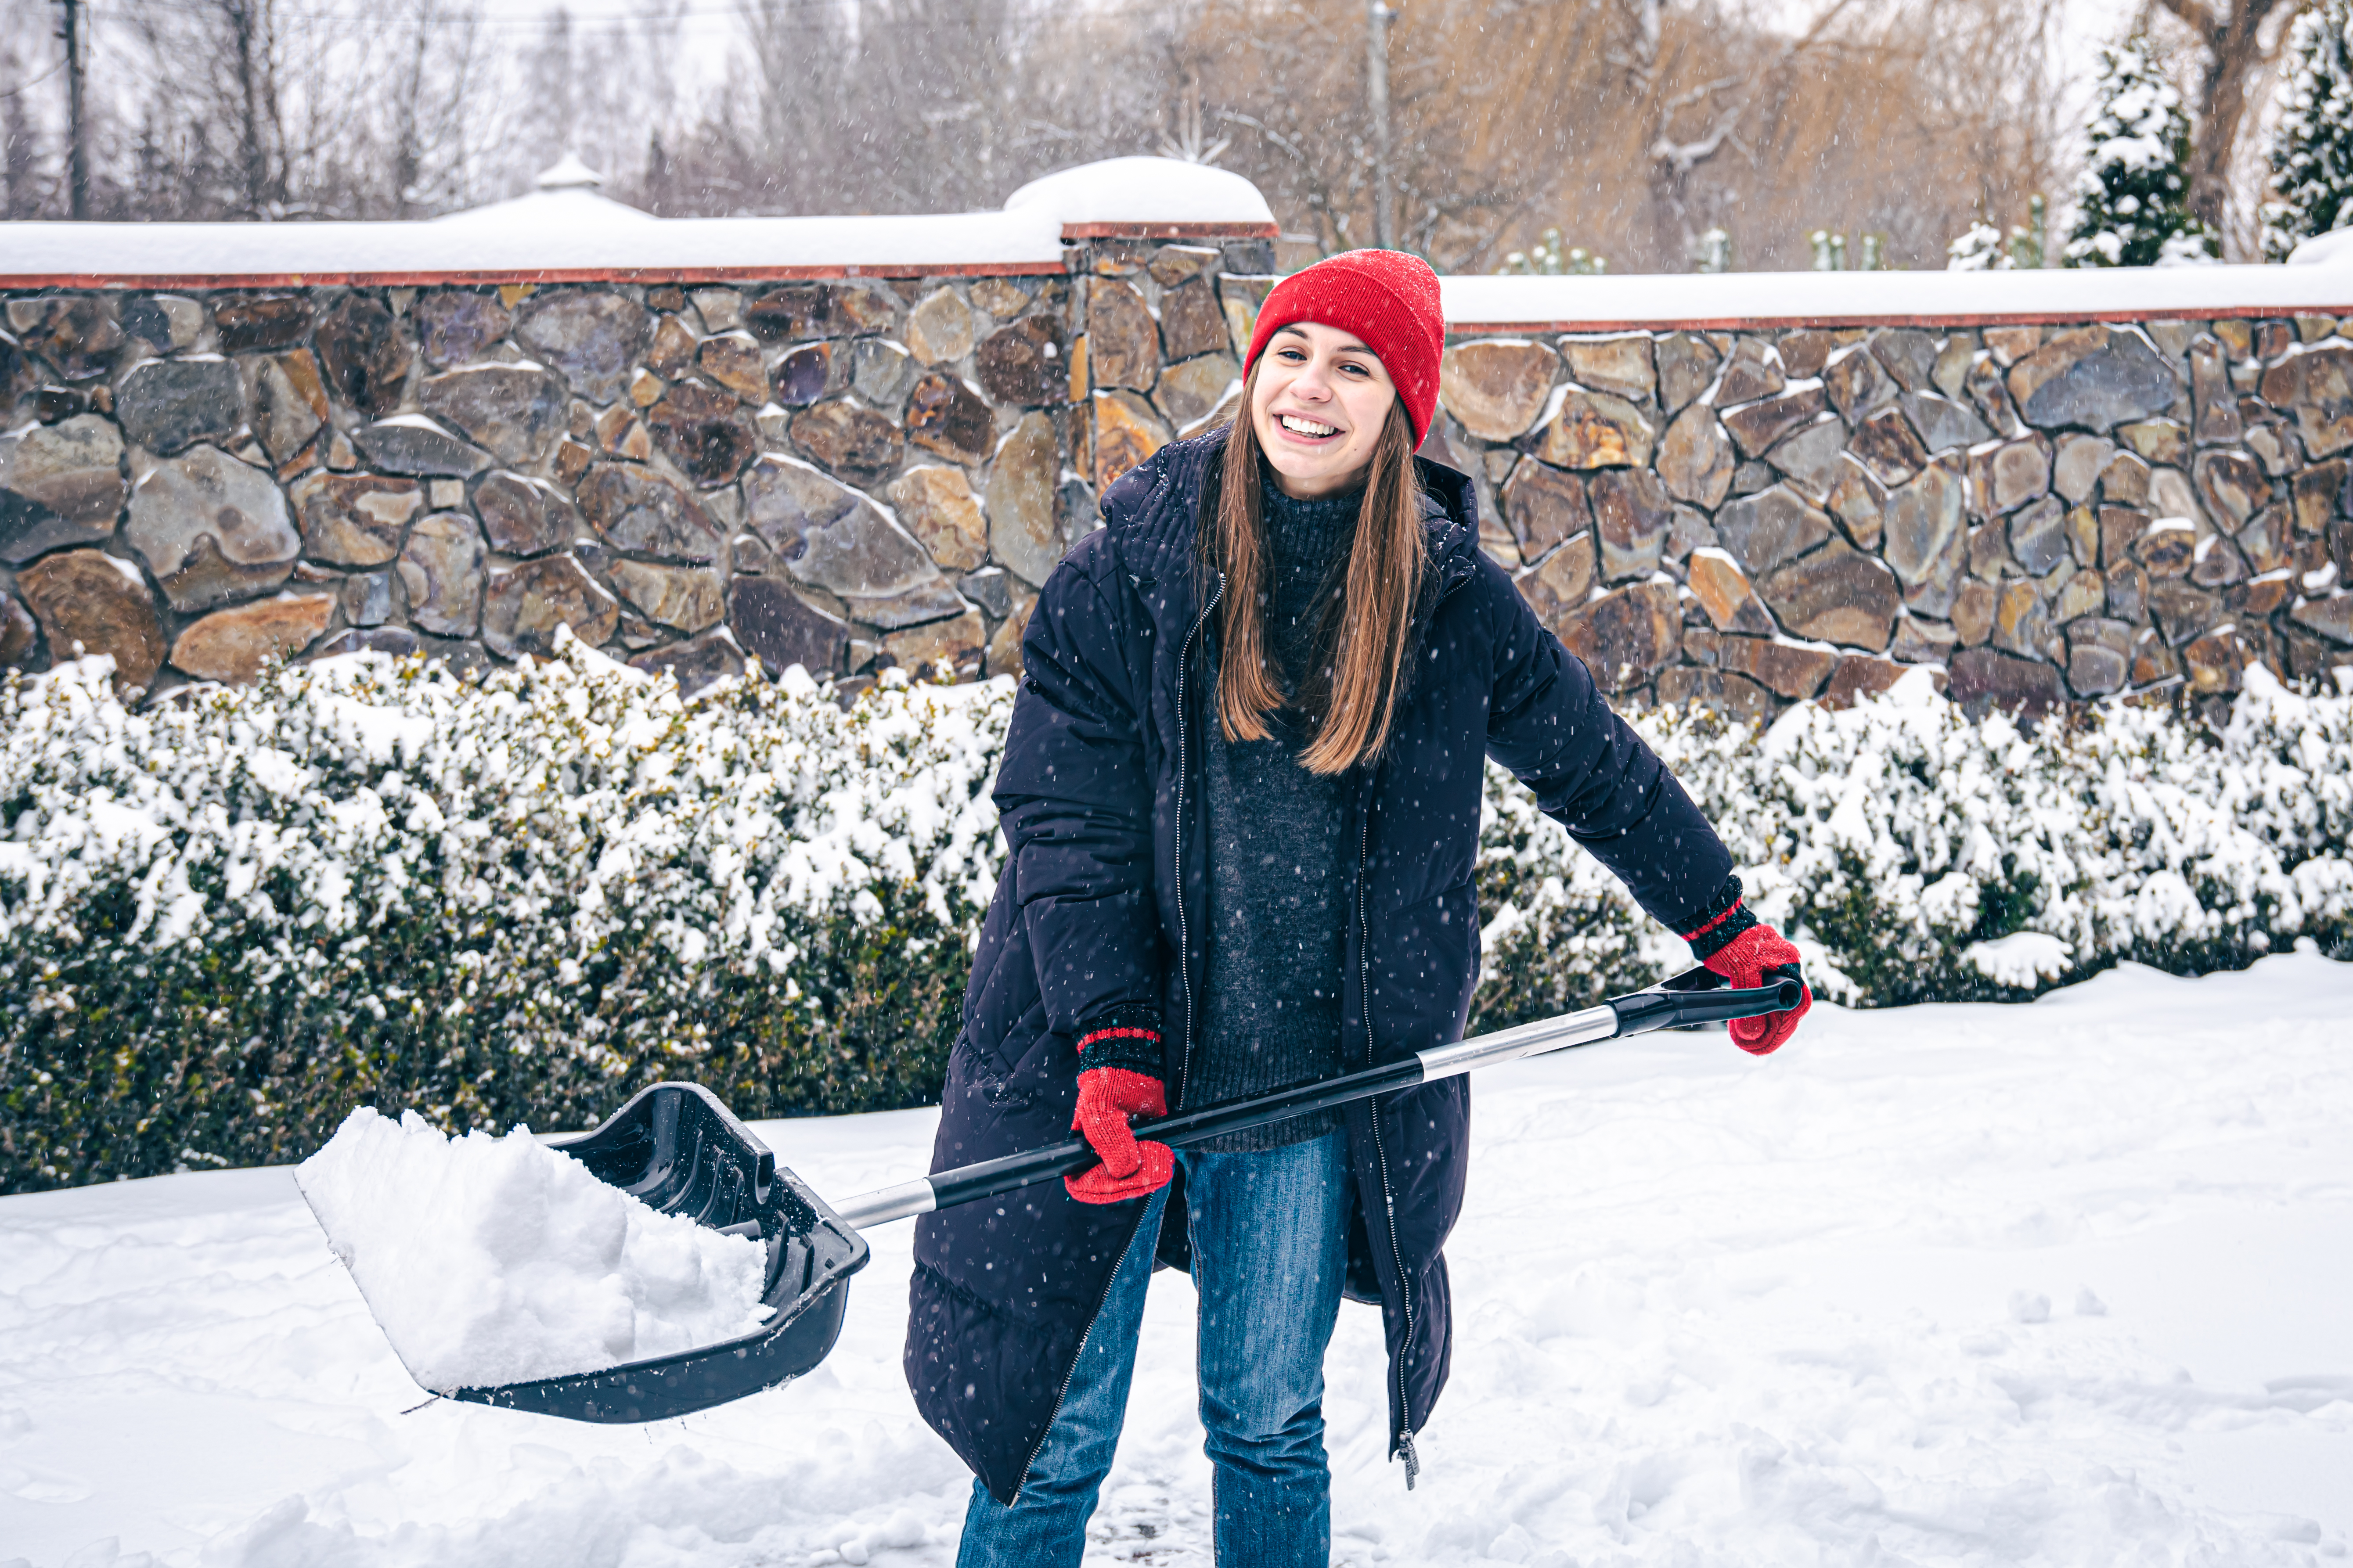
<instances>
[{"instance_id":1,"label":"long straight brown hair hanging below the red beanie","mask_svg":"<svg viewBox=\"0 0 2353 1568\"><path fill-rule=\"evenodd\" d=\"M1264 364L1264 360L1261 360ZM1311 773L1344 773L1372 762L1388 743L1388 722L1405 684L1405 644L1414 599L1421 595L1421 480L1414 475L1414 425L1405 404L1388 407L1388 423L1365 470L1365 501L1355 515L1341 590L1325 592L1315 628L1315 658L1297 672L1285 696L1268 665L1264 595L1268 583L1264 505L1259 496L1259 430L1252 404L1259 364L1242 383L1242 404L1226 437L1217 505L1200 531L1202 562L1226 574L1219 607L1217 717L1228 741L1266 741L1268 715L1285 703L1313 724L1299 752Z\"/></svg>"}]
</instances>

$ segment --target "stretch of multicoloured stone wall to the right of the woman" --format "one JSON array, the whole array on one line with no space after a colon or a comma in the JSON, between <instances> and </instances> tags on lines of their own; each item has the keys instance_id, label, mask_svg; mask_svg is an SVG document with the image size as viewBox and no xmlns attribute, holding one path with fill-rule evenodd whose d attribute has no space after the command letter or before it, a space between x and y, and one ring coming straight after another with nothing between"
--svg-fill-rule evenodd
<instances>
[{"instance_id":1,"label":"stretch of multicoloured stone wall to the right of the woman","mask_svg":"<svg viewBox=\"0 0 2353 1568\"><path fill-rule=\"evenodd\" d=\"M2337 320L1457 341L1487 548L1621 693L1972 705L2353 663Z\"/></svg>"}]
</instances>

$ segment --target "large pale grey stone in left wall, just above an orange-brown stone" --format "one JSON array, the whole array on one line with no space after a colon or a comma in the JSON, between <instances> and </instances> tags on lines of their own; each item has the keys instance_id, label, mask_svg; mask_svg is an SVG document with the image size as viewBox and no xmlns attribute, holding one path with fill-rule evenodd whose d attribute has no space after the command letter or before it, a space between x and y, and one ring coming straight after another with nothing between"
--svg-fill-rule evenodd
<instances>
[{"instance_id":1,"label":"large pale grey stone in left wall, just above an orange-brown stone","mask_svg":"<svg viewBox=\"0 0 2353 1568\"><path fill-rule=\"evenodd\" d=\"M132 491L122 538L181 614L278 588L301 552L271 475L219 447L195 447L148 470Z\"/></svg>"}]
</instances>

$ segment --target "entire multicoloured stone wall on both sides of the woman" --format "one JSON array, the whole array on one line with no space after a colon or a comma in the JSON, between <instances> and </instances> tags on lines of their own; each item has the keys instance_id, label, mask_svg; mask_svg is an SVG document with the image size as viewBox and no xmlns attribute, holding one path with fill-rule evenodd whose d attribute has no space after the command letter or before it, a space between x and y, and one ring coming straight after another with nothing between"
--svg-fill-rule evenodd
<instances>
[{"instance_id":1,"label":"entire multicoloured stone wall on both sides of the woman","mask_svg":"<svg viewBox=\"0 0 2353 1568\"><path fill-rule=\"evenodd\" d=\"M1226 416L1261 240L1064 275L5 294L0 663L689 682L1016 665L1101 487ZM1431 456L1631 701L2221 698L2353 663L2334 317L1452 341Z\"/></svg>"}]
</instances>

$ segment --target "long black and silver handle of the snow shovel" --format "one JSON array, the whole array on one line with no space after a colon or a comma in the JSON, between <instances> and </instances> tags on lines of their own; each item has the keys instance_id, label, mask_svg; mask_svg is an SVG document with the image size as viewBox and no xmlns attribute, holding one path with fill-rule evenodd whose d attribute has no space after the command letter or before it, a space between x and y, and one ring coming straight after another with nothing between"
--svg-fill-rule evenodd
<instances>
[{"instance_id":1,"label":"long black and silver handle of the snow shovel","mask_svg":"<svg viewBox=\"0 0 2353 1568\"><path fill-rule=\"evenodd\" d=\"M1362 1072L1348 1072L1318 1084L1299 1084L1297 1088L1280 1088L1254 1100L1205 1105L1202 1110L1179 1112L1158 1121L1139 1121L1136 1138L1151 1138L1181 1150L1186 1145L1221 1138L1224 1133L1238 1133L1249 1126L1287 1121L1289 1117L1299 1117L1311 1110L1327 1110L1332 1105L1346 1105L1379 1093L1395 1093L1398 1088L1412 1088L1414 1084L1435 1084L1438 1079L1449 1079L1461 1072L1471 1072L1473 1067L1497 1067L1527 1056L1569 1051L1574 1046L1591 1046L1600 1039L1647 1034L1649 1030L1786 1013L1798 1006L1800 990L1802 987L1795 978L1781 978L1772 985L1758 985L1753 990L1722 990L1722 980L1715 973L1692 969L1652 990L1612 997L1609 1001L1588 1006L1581 1013L1539 1018L1537 1023L1522 1023L1492 1034L1480 1034L1475 1039L1461 1039L1452 1046L1431 1046L1428 1051L1417 1051L1402 1063L1365 1067ZM934 1208L953 1208L958 1204L972 1204L1000 1192L1014 1192L1016 1187L1028 1187L1056 1175L1078 1175L1092 1164L1096 1164L1094 1147L1085 1138L1073 1138L1071 1143L1056 1143L1045 1150L1007 1154L1005 1159L984 1159L974 1166L934 1171L932 1175L920 1175L911 1182L864 1192L854 1199L835 1204L833 1213L849 1225L866 1229L871 1225L932 1213Z\"/></svg>"}]
</instances>

